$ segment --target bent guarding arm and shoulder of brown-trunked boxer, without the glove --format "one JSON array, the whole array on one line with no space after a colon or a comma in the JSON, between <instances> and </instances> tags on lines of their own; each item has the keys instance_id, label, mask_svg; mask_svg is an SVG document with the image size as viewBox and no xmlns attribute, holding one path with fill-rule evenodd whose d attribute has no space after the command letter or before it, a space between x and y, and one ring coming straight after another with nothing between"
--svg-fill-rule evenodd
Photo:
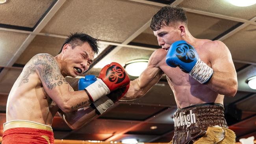
<instances>
[{"instance_id":1,"label":"bent guarding arm and shoulder of brown-trunked boxer, without the glove","mask_svg":"<svg viewBox=\"0 0 256 144\"><path fill-rule=\"evenodd\" d=\"M206 85L219 94L235 96L237 76L230 51L221 41L211 42L209 50L209 61L213 69L213 76Z\"/></svg>"}]
</instances>

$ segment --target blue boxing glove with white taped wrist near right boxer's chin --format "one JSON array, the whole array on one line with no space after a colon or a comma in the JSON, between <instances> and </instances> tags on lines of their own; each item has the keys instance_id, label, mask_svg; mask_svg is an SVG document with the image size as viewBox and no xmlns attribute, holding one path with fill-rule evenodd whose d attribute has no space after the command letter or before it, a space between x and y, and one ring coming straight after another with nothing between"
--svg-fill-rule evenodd
<instances>
[{"instance_id":1,"label":"blue boxing glove with white taped wrist near right boxer's chin","mask_svg":"<svg viewBox=\"0 0 256 144\"><path fill-rule=\"evenodd\" d=\"M171 67L180 67L203 84L210 81L213 75L213 69L200 60L195 48L186 41L174 42L167 52L165 61Z\"/></svg>"}]
</instances>

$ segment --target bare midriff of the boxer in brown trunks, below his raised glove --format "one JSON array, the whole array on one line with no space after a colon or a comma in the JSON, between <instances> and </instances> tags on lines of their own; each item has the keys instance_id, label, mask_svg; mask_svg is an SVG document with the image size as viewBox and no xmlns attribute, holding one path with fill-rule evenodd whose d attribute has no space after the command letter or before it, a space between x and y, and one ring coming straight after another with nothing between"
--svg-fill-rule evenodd
<instances>
[{"instance_id":1,"label":"bare midriff of the boxer in brown trunks, below his raised glove","mask_svg":"<svg viewBox=\"0 0 256 144\"><path fill-rule=\"evenodd\" d=\"M200 103L221 103L224 96L200 84L191 76L182 72L180 68L161 67L167 81L173 90L178 108L188 107Z\"/></svg>"}]
</instances>

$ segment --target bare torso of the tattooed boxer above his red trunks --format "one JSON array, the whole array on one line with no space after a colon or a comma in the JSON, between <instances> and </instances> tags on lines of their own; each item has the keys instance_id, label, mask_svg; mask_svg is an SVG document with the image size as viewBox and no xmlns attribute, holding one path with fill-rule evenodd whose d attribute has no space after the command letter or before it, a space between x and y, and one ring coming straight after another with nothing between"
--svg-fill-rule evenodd
<instances>
[{"instance_id":1,"label":"bare torso of the tattooed boxer above his red trunks","mask_svg":"<svg viewBox=\"0 0 256 144\"><path fill-rule=\"evenodd\" d=\"M72 87L70 91L73 91ZM58 105L46 94L32 61L28 62L9 94L6 108L7 122L29 120L51 126L58 110Z\"/></svg>"}]
</instances>

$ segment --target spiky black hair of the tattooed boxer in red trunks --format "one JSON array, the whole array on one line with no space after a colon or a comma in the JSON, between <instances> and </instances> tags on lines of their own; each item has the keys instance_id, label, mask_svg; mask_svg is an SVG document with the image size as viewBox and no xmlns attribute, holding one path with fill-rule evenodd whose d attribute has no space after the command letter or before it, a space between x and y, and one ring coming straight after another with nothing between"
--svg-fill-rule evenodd
<instances>
[{"instance_id":1,"label":"spiky black hair of the tattooed boxer in red trunks","mask_svg":"<svg viewBox=\"0 0 256 144\"><path fill-rule=\"evenodd\" d=\"M75 48L76 46L82 46L84 42L88 42L91 48L93 49L93 52L95 54L98 54L98 39L95 39L85 33L82 32L75 32L75 33L70 33L69 37L65 40L63 43L61 50L59 51L59 54L62 52L63 46L65 44L71 44L72 49Z\"/></svg>"}]
</instances>

